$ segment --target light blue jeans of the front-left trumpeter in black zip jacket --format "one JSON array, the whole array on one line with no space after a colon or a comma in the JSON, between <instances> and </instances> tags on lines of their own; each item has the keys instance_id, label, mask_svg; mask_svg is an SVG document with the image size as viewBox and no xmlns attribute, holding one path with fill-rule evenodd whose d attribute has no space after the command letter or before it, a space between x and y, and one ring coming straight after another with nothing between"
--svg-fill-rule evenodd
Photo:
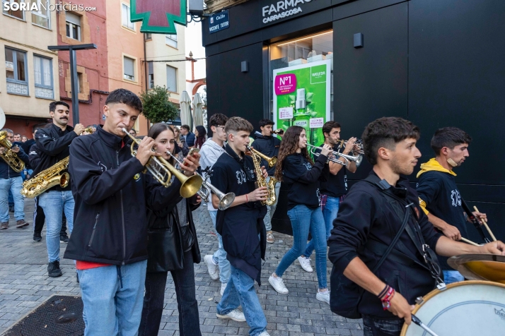
<instances>
[{"instance_id":1,"label":"light blue jeans of the front-left trumpeter in black zip jacket","mask_svg":"<svg viewBox=\"0 0 505 336\"><path fill-rule=\"evenodd\" d=\"M147 260L77 270L85 336L137 336L146 268Z\"/></svg>"}]
</instances>

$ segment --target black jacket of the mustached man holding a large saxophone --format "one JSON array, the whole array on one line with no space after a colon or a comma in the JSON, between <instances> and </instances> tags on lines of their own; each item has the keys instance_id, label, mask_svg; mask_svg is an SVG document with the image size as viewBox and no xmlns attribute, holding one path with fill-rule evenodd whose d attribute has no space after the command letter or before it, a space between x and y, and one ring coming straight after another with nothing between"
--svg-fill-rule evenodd
<instances>
[{"instance_id":1,"label":"black jacket of the mustached man holding a large saxophone","mask_svg":"<svg viewBox=\"0 0 505 336\"><path fill-rule=\"evenodd\" d=\"M37 175L57 162L69 156L69 148L72 140L77 138L78 135L74 132L74 127L66 126L65 131L62 128L52 124L48 128L41 128L35 133L35 142L39 150L40 162L37 167L33 168L32 176ZM65 171L64 171L65 172ZM62 172L63 173L63 172ZM72 176L70 176L72 177ZM65 188L56 185L49 189L49 191L70 191L72 179L69 185Z\"/></svg>"}]
</instances>

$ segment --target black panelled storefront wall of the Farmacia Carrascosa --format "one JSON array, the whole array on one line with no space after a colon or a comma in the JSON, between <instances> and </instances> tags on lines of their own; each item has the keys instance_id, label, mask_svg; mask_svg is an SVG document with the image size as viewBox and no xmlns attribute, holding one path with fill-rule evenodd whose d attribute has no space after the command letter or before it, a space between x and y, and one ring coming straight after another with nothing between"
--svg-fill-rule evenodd
<instances>
[{"instance_id":1,"label":"black panelled storefront wall of the Farmacia Carrascosa","mask_svg":"<svg viewBox=\"0 0 505 336\"><path fill-rule=\"evenodd\" d=\"M231 20L232 10L243 13L240 6L249 13L260 8L253 0L231 8ZM504 35L500 16L504 12L505 3L491 0L358 0L256 31L252 31L255 20L248 18L245 28L251 29L240 28L243 35L238 37L232 37L238 34L233 22L223 34L205 36L204 29L204 44L209 44L209 116L214 112L232 115L228 111L233 111L257 124L269 113L265 45L332 25L334 112L344 138L361 137L366 124L378 117L402 116L421 128L418 145L423 153L420 161L425 162L433 156L429 140L437 128L458 126L468 131L474 140L470 159L455 170L458 188L470 207L477 205L487 212L495 236L505 239L505 227L500 225L505 217L501 173L505 159L491 150L504 143L505 116L500 109L505 106L505 46L497 42ZM261 27L255 23L254 28ZM356 32L364 35L363 48L352 46ZM250 62L249 73L240 73L244 56ZM232 109L237 106L231 104L237 102L237 93L243 109ZM364 178L370 167L364 162L356 174L349 174L350 184ZM415 183L414 174L410 177ZM285 192L281 192L274 229L290 232L285 203ZM475 229L468 231L472 240L480 241Z\"/></svg>"}]
</instances>

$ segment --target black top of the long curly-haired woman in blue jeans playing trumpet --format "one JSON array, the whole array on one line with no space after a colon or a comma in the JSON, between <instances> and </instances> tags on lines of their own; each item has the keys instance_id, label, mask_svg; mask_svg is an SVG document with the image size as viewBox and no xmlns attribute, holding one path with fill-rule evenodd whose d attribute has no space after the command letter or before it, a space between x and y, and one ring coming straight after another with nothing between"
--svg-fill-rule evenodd
<instances>
[{"instance_id":1,"label":"black top of the long curly-haired woman in blue jeans playing trumpet","mask_svg":"<svg viewBox=\"0 0 505 336\"><path fill-rule=\"evenodd\" d=\"M313 209L321 205L319 181L325 181L327 177L323 172L326 160L325 155L319 155L312 165L301 153L288 155L284 159L282 181L284 187L289 188L288 210L296 205Z\"/></svg>"}]
</instances>

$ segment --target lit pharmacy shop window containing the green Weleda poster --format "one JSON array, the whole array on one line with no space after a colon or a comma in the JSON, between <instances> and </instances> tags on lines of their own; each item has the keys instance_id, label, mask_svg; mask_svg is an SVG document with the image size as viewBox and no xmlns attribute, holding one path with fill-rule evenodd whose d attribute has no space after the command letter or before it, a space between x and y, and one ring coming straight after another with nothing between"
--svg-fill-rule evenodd
<instances>
[{"instance_id":1,"label":"lit pharmacy shop window containing the green Weleda poster","mask_svg":"<svg viewBox=\"0 0 505 336\"><path fill-rule=\"evenodd\" d=\"M310 143L317 142L313 143L315 145L324 140L321 138L320 130L316 129L320 126L315 126L321 120L320 117L323 117L324 121L334 119L332 52L332 30L269 46L270 119L276 121L276 128L287 128L292 125L306 128ZM320 62L325 60L331 60L330 65L327 62ZM279 83L274 83L274 71L286 76L282 78L279 76L277 78ZM280 80L286 83L280 83ZM291 83L289 82L291 80L296 85L284 85ZM283 108L282 116L280 108Z\"/></svg>"}]
</instances>

